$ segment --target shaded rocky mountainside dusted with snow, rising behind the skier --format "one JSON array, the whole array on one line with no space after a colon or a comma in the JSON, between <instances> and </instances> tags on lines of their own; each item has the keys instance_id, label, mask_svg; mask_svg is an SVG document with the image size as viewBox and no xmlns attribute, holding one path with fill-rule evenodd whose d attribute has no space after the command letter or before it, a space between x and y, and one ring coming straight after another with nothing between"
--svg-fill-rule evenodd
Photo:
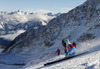
<instances>
[{"instance_id":1,"label":"shaded rocky mountainside dusted with snow, rising behind the skier","mask_svg":"<svg viewBox=\"0 0 100 69\"><path fill-rule=\"evenodd\" d=\"M99 4L99 0L87 0L68 13L52 19L47 26L26 31L16 38L9 51L20 52L19 50L24 51L24 48L30 50L34 46L56 46L56 43L61 46L62 39L68 37L79 25L80 28L71 36L72 41L82 42L100 37L97 34L100 28Z\"/></svg>"}]
</instances>

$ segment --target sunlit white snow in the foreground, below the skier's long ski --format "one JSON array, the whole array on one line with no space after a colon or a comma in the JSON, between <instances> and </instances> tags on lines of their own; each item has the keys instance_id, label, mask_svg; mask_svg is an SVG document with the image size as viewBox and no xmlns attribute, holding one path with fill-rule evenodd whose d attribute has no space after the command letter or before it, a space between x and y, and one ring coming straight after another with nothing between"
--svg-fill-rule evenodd
<instances>
[{"instance_id":1,"label":"sunlit white snow in the foreground, below the skier's long ski","mask_svg":"<svg viewBox=\"0 0 100 69\"><path fill-rule=\"evenodd\" d=\"M100 51L41 69L99 69L100 56L98 55L100 55Z\"/></svg>"}]
</instances>

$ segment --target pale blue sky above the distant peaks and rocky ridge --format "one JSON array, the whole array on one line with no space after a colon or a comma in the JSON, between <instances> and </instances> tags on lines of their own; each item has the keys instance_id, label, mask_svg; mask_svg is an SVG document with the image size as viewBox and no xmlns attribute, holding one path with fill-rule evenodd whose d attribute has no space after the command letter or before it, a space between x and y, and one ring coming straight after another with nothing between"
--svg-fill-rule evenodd
<instances>
[{"instance_id":1,"label":"pale blue sky above the distant peaks and rocky ridge","mask_svg":"<svg viewBox=\"0 0 100 69\"><path fill-rule=\"evenodd\" d=\"M86 0L0 0L0 10L4 11L53 11L65 13L81 5Z\"/></svg>"}]
</instances>

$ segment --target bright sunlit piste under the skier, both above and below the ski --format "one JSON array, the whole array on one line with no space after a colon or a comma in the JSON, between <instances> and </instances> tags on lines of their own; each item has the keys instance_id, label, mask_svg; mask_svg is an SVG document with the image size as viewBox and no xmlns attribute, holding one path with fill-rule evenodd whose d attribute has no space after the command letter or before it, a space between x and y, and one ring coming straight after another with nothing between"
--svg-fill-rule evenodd
<instances>
[{"instance_id":1,"label":"bright sunlit piste under the skier, both above and below the ski","mask_svg":"<svg viewBox=\"0 0 100 69\"><path fill-rule=\"evenodd\" d=\"M85 48L81 49L83 51L89 51L84 55L80 55L78 57L65 60L62 62L55 63L53 65L44 66L45 63L51 62L54 60L58 60L64 57L64 55L56 56L54 58L44 61L45 58L38 59L38 64L34 64L34 60L31 60L23 69L99 69L100 68L100 39L94 39L87 42L81 43L80 46L86 46ZM95 42L95 44L94 44ZM79 50L79 49L78 49ZM80 53L81 53L80 52ZM42 62L41 62L42 61Z\"/></svg>"}]
</instances>

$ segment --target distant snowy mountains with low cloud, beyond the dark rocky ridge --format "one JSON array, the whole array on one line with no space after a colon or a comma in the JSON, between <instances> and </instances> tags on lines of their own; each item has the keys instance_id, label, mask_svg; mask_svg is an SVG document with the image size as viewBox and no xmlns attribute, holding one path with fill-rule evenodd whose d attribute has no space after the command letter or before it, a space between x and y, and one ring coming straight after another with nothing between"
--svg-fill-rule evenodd
<instances>
[{"instance_id":1,"label":"distant snowy mountains with low cloud, beyond the dark rocky ridge","mask_svg":"<svg viewBox=\"0 0 100 69\"><path fill-rule=\"evenodd\" d=\"M54 14L52 12L29 13L20 10L13 12L0 11L0 44L7 46L19 34L30 28L47 25L51 19L59 15L60 13ZM9 37L10 35L13 37Z\"/></svg>"}]
</instances>

